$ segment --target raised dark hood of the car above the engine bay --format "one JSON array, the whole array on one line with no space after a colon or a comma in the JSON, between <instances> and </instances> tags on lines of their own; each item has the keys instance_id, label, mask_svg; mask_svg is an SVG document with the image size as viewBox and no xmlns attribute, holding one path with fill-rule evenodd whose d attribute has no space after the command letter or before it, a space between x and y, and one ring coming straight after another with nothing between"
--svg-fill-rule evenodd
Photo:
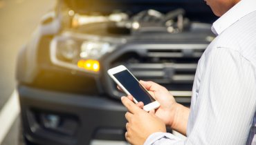
<instances>
[{"instance_id":1,"label":"raised dark hood of the car above the engine bay","mask_svg":"<svg viewBox=\"0 0 256 145\"><path fill-rule=\"evenodd\" d=\"M203 0L60 0L65 6L80 14L99 12L109 14L113 11L135 14L142 10L158 10L170 12L176 8L183 8L187 17L194 21L212 22L214 14Z\"/></svg>"}]
</instances>

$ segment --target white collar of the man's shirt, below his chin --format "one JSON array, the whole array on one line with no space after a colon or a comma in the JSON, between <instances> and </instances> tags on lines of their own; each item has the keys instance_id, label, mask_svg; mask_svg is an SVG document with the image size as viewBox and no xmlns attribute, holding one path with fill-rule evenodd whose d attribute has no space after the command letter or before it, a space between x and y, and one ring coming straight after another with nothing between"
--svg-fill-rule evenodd
<instances>
[{"instance_id":1,"label":"white collar of the man's shirt, below his chin","mask_svg":"<svg viewBox=\"0 0 256 145\"><path fill-rule=\"evenodd\" d=\"M212 32L215 35L221 34L226 28L230 27L233 23L246 16L250 12L256 10L255 0L241 0L233 6L228 12L223 14L217 21L212 24Z\"/></svg>"}]
</instances>

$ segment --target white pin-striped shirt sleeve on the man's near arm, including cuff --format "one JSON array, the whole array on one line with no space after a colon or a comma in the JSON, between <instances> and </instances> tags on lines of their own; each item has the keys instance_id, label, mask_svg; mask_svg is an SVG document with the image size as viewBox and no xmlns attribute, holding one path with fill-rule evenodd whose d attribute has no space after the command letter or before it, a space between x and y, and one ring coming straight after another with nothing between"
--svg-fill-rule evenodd
<instances>
[{"instance_id":1,"label":"white pin-striped shirt sleeve on the man's near arm, including cuff","mask_svg":"<svg viewBox=\"0 0 256 145\"><path fill-rule=\"evenodd\" d=\"M214 48L204 57L187 139L154 133L145 145L246 144L256 108L255 68L229 48Z\"/></svg>"}]
</instances>

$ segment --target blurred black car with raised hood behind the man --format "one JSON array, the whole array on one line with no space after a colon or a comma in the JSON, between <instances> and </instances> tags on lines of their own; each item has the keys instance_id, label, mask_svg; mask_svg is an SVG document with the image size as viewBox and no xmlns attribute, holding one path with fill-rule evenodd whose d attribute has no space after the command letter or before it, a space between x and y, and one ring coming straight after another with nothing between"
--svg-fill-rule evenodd
<instances>
[{"instance_id":1,"label":"blurred black car with raised hood behind the man","mask_svg":"<svg viewBox=\"0 0 256 145\"><path fill-rule=\"evenodd\" d=\"M120 64L189 106L214 19L202 0L57 1L17 58L26 144L127 144Z\"/></svg>"}]
</instances>

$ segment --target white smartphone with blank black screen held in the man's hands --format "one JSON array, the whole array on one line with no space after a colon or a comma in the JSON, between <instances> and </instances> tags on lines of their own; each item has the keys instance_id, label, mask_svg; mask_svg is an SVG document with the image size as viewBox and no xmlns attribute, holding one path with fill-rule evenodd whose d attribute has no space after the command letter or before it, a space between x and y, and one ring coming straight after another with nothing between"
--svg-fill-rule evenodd
<instances>
[{"instance_id":1,"label":"white smartphone with blank black screen held in the man's hands","mask_svg":"<svg viewBox=\"0 0 256 145\"><path fill-rule=\"evenodd\" d=\"M116 66L108 71L109 76L122 88L127 95L134 97L134 103L143 101L143 109L146 111L158 108L160 104L150 95L144 86L140 84L138 79L131 74L125 66Z\"/></svg>"}]
</instances>

